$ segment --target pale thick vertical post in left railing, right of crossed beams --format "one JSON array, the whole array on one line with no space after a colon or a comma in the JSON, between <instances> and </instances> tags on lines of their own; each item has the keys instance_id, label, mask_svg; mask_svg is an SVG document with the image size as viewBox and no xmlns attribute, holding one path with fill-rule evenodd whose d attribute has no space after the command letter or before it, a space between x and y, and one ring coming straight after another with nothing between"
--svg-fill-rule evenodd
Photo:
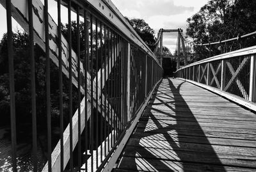
<instances>
[{"instance_id":1,"label":"pale thick vertical post in left railing, right of crossed beams","mask_svg":"<svg viewBox=\"0 0 256 172\"><path fill-rule=\"evenodd\" d=\"M131 120L130 98L131 98L131 45L127 47L127 121Z\"/></svg>"}]
</instances>

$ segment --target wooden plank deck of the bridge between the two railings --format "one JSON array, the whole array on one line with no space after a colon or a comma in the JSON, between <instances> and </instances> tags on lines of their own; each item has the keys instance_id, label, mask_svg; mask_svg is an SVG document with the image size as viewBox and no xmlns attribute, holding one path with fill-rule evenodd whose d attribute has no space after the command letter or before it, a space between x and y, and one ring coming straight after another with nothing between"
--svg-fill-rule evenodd
<instances>
[{"instance_id":1,"label":"wooden plank deck of the bridge between the two railings","mask_svg":"<svg viewBox=\"0 0 256 172\"><path fill-rule=\"evenodd\" d=\"M256 171L256 114L163 79L114 171Z\"/></svg>"}]
</instances>

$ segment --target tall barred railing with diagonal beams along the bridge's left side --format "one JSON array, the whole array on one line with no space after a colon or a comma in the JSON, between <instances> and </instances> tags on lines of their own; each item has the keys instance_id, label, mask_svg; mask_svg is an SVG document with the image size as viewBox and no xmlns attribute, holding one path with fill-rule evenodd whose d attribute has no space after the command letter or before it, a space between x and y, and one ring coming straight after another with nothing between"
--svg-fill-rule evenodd
<instances>
[{"instance_id":1,"label":"tall barred railing with diagonal beams along the bridge's left side","mask_svg":"<svg viewBox=\"0 0 256 172\"><path fill-rule=\"evenodd\" d=\"M163 69L156 56L111 1L58 0L57 24L49 15L47 0L44 3L40 0L12 0L0 3L6 8L8 23L12 124L10 170L22 171L17 160L19 148L15 128L17 121L13 74L13 17L29 35L33 171L111 171L115 165L113 162L122 152L125 140L127 141L136 123L138 113L141 113L162 77ZM68 13L66 35L61 24L63 8L67 8ZM76 29L71 20L74 13ZM36 120L40 114L36 111L35 46L44 52L42 58L45 59L47 122L44 124ZM52 107L51 103L51 75L54 75L51 73L51 63L58 68L58 74L55 74L58 77L58 107ZM66 93L63 86L68 88ZM77 91L76 97L74 88ZM64 94L68 95L65 96L68 97L67 127L63 112ZM78 106L76 111L74 104ZM54 108L58 109L60 121L60 139L55 145L52 141L51 121ZM47 125L47 162L43 168L38 167L38 125Z\"/></svg>"}]
</instances>

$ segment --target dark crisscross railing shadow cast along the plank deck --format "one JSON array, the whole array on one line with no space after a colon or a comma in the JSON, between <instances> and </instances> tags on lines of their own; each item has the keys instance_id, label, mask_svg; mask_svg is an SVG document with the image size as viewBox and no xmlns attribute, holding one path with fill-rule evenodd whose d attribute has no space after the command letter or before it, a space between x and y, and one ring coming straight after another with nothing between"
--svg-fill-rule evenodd
<instances>
[{"instance_id":1,"label":"dark crisscross railing shadow cast along the plank deck","mask_svg":"<svg viewBox=\"0 0 256 172\"><path fill-rule=\"evenodd\" d=\"M127 168L143 171L225 171L204 130L180 94L182 84L184 82L175 87L170 79L164 79L159 86L125 149L124 156L130 159ZM154 105L161 108L156 109ZM198 138L200 141L196 140ZM125 166L124 163L127 162L124 160L120 166Z\"/></svg>"}]
</instances>

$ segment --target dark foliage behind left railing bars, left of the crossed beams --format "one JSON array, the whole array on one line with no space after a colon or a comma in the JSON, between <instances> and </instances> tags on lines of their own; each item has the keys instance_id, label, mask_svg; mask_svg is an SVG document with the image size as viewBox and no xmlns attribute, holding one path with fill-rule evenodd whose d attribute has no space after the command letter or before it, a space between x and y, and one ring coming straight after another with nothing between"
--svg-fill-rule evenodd
<instances>
[{"instance_id":1,"label":"dark foliage behind left railing bars, left of the crossed beams","mask_svg":"<svg viewBox=\"0 0 256 172\"><path fill-rule=\"evenodd\" d=\"M13 33L13 59L15 73L15 106L17 127L31 129L20 125L31 123L31 81L29 61L29 39L27 33L18 31ZM4 34L0 42L0 111L1 124L10 122L10 93L7 56L7 35ZM45 128L46 123L46 82L45 82L45 53L35 44L35 84L36 84L36 114L38 127ZM58 68L51 61L51 114L52 123L59 123L59 93ZM73 87L74 107L77 108L77 90ZM64 121L68 122L68 79L63 75L63 113ZM23 121L23 122L22 122ZM20 131L20 130L19 130Z\"/></svg>"}]
</instances>

